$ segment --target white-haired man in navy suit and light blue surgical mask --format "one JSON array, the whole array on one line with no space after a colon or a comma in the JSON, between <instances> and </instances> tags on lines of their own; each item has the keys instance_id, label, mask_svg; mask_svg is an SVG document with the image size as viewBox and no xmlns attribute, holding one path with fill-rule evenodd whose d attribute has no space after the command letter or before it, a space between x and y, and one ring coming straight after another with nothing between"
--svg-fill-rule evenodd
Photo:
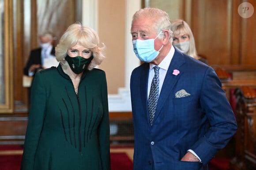
<instances>
[{"instance_id":1,"label":"white-haired man in navy suit and light blue surgical mask","mask_svg":"<svg viewBox=\"0 0 256 170\"><path fill-rule=\"evenodd\" d=\"M172 46L165 11L140 9L131 33L133 50L144 61L130 81L134 170L208 170L237 130L218 76Z\"/></svg>"}]
</instances>

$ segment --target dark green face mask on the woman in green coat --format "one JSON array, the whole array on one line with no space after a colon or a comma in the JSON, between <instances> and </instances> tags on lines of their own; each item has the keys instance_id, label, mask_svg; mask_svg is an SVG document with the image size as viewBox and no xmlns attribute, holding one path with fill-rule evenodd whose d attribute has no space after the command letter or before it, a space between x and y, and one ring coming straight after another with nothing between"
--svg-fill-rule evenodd
<instances>
[{"instance_id":1,"label":"dark green face mask on the woman in green coat","mask_svg":"<svg viewBox=\"0 0 256 170\"><path fill-rule=\"evenodd\" d=\"M77 57L70 57L68 54L65 58L65 60L68 62L68 65L72 69L75 74L80 74L84 70L87 69L88 65L93 59L93 55L90 56L90 58L83 58L80 56Z\"/></svg>"}]
</instances>

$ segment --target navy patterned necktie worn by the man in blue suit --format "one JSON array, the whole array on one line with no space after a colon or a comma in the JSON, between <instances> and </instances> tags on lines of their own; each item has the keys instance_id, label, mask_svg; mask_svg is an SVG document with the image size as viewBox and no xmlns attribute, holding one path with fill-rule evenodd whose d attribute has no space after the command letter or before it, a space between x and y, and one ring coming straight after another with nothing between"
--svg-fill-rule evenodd
<instances>
[{"instance_id":1,"label":"navy patterned necktie worn by the man in blue suit","mask_svg":"<svg viewBox=\"0 0 256 170\"><path fill-rule=\"evenodd\" d=\"M149 120L152 126L154 120L154 113L157 106L159 95L159 67L154 66L154 78L151 83L149 97L147 100Z\"/></svg>"}]
</instances>

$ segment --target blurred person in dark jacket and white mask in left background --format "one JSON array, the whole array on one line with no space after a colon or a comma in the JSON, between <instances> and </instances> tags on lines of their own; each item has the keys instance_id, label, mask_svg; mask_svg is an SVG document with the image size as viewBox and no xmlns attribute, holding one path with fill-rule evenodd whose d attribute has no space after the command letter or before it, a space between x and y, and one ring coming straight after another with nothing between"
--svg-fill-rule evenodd
<instances>
[{"instance_id":1,"label":"blurred person in dark jacket and white mask in left background","mask_svg":"<svg viewBox=\"0 0 256 170\"><path fill-rule=\"evenodd\" d=\"M30 51L26 66L23 70L24 75L34 76L35 72L56 65L55 48L53 47L53 35L44 33L39 36L40 47ZM49 62L52 64L50 65Z\"/></svg>"}]
</instances>

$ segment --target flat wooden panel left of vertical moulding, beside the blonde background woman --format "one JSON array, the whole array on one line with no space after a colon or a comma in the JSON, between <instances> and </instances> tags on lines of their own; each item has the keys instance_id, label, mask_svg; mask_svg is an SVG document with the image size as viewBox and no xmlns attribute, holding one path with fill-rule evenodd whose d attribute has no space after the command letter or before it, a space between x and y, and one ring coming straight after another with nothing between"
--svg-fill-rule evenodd
<instances>
[{"instance_id":1,"label":"flat wooden panel left of vertical moulding, beside the blonde background woman","mask_svg":"<svg viewBox=\"0 0 256 170\"><path fill-rule=\"evenodd\" d=\"M194 0L192 31L199 54L209 64L230 63L230 13L227 0Z\"/></svg>"}]
</instances>

